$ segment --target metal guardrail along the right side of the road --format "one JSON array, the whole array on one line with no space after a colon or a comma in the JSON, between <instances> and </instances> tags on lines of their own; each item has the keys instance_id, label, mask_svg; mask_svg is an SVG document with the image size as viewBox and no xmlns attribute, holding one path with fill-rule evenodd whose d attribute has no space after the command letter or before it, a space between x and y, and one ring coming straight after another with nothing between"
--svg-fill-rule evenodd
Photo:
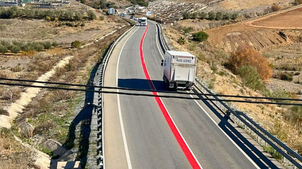
<instances>
[{"instance_id":1,"label":"metal guardrail along the right side of the road","mask_svg":"<svg viewBox=\"0 0 302 169\"><path fill-rule=\"evenodd\" d=\"M157 26L159 24L156 24ZM159 29L159 26L158 26ZM160 25L160 35L161 35L161 43L164 46L165 50L171 50L169 45L167 44L167 41L165 39L165 36L162 32L162 26ZM198 78L195 78L195 86L199 88L199 90L202 93L205 94L214 94L210 89L206 87L206 85L201 82ZM215 98L220 99L219 97L213 97L210 96L208 98ZM282 155L282 163L285 163L287 165L294 166L294 169L299 168L302 169L302 157L297 153L297 151L294 151L290 147L287 146L286 143L281 142L277 136L272 135L267 130L262 128L259 123L256 123L253 121L252 118L250 118L247 114L239 111L234 110L230 108L225 102L221 101L212 101L213 104L215 104L217 107L219 107L224 113L230 118L231 121L236 122L238 125L244 126L245 129L249 128L251 137L256 136L256 141L262 145L262 146L271 146L275 149L278 153ZM232 115L230 114L232 113ZM231 117L232 116L232 117ZM232 119L233 118L233 119ZM248 130L248 129L247 129ZM298 162L298 161L300 162Z\"/></svg>"}]
</instances>

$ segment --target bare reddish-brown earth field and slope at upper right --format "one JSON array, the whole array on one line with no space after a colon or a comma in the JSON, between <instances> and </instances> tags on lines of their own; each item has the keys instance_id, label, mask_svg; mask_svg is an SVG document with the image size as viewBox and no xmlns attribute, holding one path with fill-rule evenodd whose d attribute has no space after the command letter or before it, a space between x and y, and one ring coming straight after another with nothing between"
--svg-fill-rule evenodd
<instances>
[{"instance_id":1,"label":"bare reddish-brown earth field and slope at upper right","mask_svg":"<svg viewBox=\"0 0 302 169\"><path fill-rule=\"evenodd\" d=\"M225 51L234 51L240 45L250 44L261 50L270 46L286 46L291 39L281 36L282 29L302 29L302 6L296 6L245 22L221 26L206 31L209 42Z\"/></svg>"}]
</instances>

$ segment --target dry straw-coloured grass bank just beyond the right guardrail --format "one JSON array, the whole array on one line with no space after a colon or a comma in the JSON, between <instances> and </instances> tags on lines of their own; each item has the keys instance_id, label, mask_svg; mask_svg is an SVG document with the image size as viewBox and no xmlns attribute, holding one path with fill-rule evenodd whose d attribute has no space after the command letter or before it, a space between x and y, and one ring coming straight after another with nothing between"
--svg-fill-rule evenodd
<instances>
[{"instance_id":1,"label":"dry straw-coloured grass bank just beyond the right guardrail","mask_svg":"<svg viewBox=\"0 0 302 169\"><path fill-rule=\"evenodd\" d=\"M257 92L246 86L242 86L240 78L221 66L227 62L230 54L223 50L213 48L208 42L199 44L188 42L185 45L179 45L176 40L183 35L170 27L165 27L164 33L170 39L170 43L174 47L173 50L188 51L198 57L197 77L207 81L210 87L217 93L262 96L259 91ZM215 34L210 34L210 36L211 35L217 36ZM272 105L248 103L232 103L232 105L248 113L264 128L267 128L272 134L277 135L280 140L287 142L288 146L292 149L298 150L299 153L302 152L302 127L297 128L297 124L299 123L292 124L286 120L287 112L291 112L290 107L280 108Z\"/></svg>"}]
</instances>

